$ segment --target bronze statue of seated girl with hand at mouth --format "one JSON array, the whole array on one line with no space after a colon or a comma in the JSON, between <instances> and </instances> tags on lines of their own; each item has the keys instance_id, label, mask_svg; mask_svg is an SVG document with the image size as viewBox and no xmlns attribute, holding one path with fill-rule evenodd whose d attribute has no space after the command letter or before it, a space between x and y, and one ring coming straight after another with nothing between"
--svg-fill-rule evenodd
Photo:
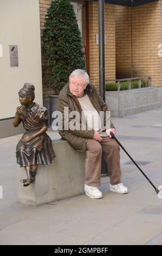
<instances>
[{"instance_id":1,"label":"bronze statue of seated girl with hand at mouth","mask_svg":"<svg viewBox=\"0 0 162 256\"><path fill-rule=\"evenodd\" d=\"M18 126L21 121L24 132L16 147L17 163L24 167L27 179L21 180L23 186L35 182L38 164L50 164L55 158L51 138L47 135L47 108L33 102L35 98L34 86L25 83L18 92L21 106L17 107L13 125Z\"/></svg>"}]
</instances>

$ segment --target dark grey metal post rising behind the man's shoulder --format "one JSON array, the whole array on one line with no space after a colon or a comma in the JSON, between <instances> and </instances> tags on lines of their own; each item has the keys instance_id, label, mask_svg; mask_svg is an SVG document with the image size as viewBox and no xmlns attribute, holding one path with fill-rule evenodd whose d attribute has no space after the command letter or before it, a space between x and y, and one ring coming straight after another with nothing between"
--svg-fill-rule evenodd
<instances>
[{"instance_id":1,"label":"dark grey metal post rising behind the man's shoulder","mask_svg":"<svg viewBox=\"0 0 162 256\"><path fill-rule=\"evenodd\" d=\"M98 0L99 94L105 101L104 0Z\"/></svg>"}]
</instances>

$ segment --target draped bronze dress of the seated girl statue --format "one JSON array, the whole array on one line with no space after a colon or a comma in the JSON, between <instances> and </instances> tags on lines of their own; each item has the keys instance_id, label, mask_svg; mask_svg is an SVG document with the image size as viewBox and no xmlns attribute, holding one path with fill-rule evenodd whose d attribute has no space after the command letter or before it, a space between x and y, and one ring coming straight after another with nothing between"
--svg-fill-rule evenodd
<instances>
[{"instance_id":1,"label":"draped bronze dress of the seated girl statue","mask_svg":"<svg viewBox=\"0 0 162 256\"><path fill-rule=\"evenodd\" d=\"M20 115L19 123L23 123L26 132L23 134L16 147L17 163L20 166L34 164L50 164L55 158L51 138L46 132L23 142L22 139L39 131L44 125L48 126L47 108L35 103L31 109L24 109Z\"/></svg>"}]
</instances>

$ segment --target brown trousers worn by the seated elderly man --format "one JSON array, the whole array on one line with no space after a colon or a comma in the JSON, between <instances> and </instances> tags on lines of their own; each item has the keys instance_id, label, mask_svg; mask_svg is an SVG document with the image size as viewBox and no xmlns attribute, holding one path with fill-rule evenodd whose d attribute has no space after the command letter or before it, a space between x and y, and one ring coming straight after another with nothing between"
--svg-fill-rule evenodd
<instances>
[{"instance_id":1,"label":"brown trousers worn by the seated elderly man","mask_svg":"<svg viewBox=\"0 0 162 256\"><path fill-rule=\"evenodd\" d=\"M85 160L85 184L98 187L101 180L102 150L107 163L110 184L121 182L120 147L115 139L103 137L101 142L87 139Z\"/></svg>"}]
</instances>

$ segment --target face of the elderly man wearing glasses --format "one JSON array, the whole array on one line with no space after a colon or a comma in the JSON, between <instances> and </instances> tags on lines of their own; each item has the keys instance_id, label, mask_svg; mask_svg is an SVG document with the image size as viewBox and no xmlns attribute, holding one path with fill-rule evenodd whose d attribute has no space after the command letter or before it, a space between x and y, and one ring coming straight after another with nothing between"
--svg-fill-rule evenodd
<instances>
[{"instance_id":1,"label":"face of the elderly man wearing glasses","mask_svg":"<svg viewBox=\"0 0 162 256\"><path fill-rule=\"evenodd\" d=\"M69 87L70 87L70 92L72 95L76 97L82 97L84 89L86 88L88 83L84 82L84 76L78 78L78 77L71 77Z\"/></svg>"}]
</instances>

